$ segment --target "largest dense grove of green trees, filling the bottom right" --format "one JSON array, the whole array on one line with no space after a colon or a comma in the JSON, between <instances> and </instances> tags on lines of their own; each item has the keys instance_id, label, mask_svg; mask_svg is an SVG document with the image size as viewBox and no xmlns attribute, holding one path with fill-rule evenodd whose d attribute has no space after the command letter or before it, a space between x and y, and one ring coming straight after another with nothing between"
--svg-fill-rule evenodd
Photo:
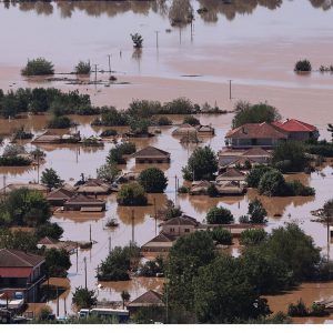
<instances>
[{"instance_id":1,"label":"largest dense grove of green trees, filling the bottom right","mask_svg":"<svg viewBox=\"0 0 333 333\"><path fill-rule=\"evenodd\" d=\"M192 313L191 320L200 323L262 320L271 313L264 295L332 276L333 270L322 274L326 261L295 224L270 235L248 231L242 243L241 255L233 258L216 254L209 232L179 239L165 266L164 297L168 293L170 311L176 309L185 317Z\"/></svg>"}]
</instances>

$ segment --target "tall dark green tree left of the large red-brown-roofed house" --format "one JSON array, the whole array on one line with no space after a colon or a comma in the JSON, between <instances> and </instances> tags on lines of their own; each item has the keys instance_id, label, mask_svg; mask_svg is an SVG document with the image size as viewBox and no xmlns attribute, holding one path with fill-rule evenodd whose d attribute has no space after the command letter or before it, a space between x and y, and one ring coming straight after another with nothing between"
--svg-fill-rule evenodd
<instances>
[{"instance_id":1,"label":"tall dark green tree left of the large red-brown-roofed house","mask_svg":"<svg viewBox=\"0 0 333 333\"><path fill-rule=\"evenodd\" d=\"M182 169L188 181L211 180L218 171L218 158L210 147L196 148L189 158L188 165Z\"/></svg>"}]
</instances>

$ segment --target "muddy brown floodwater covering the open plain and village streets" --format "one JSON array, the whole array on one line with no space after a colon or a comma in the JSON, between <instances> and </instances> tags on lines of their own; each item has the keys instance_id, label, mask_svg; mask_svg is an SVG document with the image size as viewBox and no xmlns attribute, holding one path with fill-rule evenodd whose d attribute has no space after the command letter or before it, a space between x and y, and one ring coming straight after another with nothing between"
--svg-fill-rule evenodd
<instances>
[{"instance_id":1,"label":"muddy brown floodwater covering the open plain and village streets","mask_svg":"<svg viewBox=\"0 0 333 333\"><path fill-rule=\"evenodd\" d=\"M241 1L222 4L221 1L192 1L195 9L206 7L204 16L195 13L191 26L170 27L168 8L170 1L75 1L75 2L22 2L0 3L0 43L6 46L0 54L0 89L18 87L57 87L62 90L79 89L91 94L93 103L114 104L123 108L132 99L158 99L167 101L180 95L194 102L215 102L224 109L232 109L239 99L251 102L268 101L278 107L284 118L294 117L317 125L321 138L329 139L326 124L333 121L333 77L313 72L311 75L295 75L294 62L309 58L315 69L320 64L331 64L333 36L330 28L333 19L331 1ZM264 3L264 4L262 4ZM306 26L304 24L306 22ZM24 27L17 29L18 26ZM167 32L165 29L171 29ZM133 57L130 33L140 32L144 38L141 57ZM159 31L159 44L157 34ZM13 42L14 41L14 42ZM119 81L130 84L69 85L64 82L44 82L27 80L20 75L20 68L27 58L46 57L56 64L57 72L73 70L79 60L90 59L99 70L108 70L108 54L111 67ZM135 56L135 54L134 54ZM184 77L198 75L198 77ZM63 75L59 75L63 77ZM92 74L93 79L93 74ZM108 79L98 73L98 79ZM229 82L232 81L232 99L229 99ZM99 134L101 128L90 127L93 117L72 117L80 123L78 130L83 135ZM182 117L171 117L179 123ZM215 151L224 145L224 135L231 125L232 114L201 115L202 124L212 124L216 135L205 138L204 143ZM33 133L41 133L47 117L32 115L28 119L0 120L0 134L8 138L13 129L24 124ZM219 204L226 206L238 219L246 213L249 200L256 196L249 191L245 196L219 198L188 196L174 193L175 175L182 184L181 169L195 145L185 147L171 135L175 127L162 129L162 133L150 139L134 140L138 148L154 145L171 153L170 165L162 169L169 178L164 194L149 195L150 205L134 208L134 224L131 222L132 209L117 205L115 195L107 198L105 213L56 213L53 222L63 229L63 240L89 241L97 243L89 251L79 251L78 261L71 256L72 268L65 283L70 291L65 293L67 310L71 311L71 294L77 286L84 284L83 260L87 258L88 287L95 289L99 299L120 301L122 290L128 290L131 299L148 289L162 289L162 280L134 279L131 282L114 282L97 287L95 270L111 246L125 245L134 236L142 245L159 232L153 215L153 199L158 208L168 199L176 201L182 210L199 221L206 211ZM117 129L123 131L124 129ZM63 132L63 131L60 131ZM4 140L4 144L8 139ZM2 153L2 149L0 153ZM27 142L28 150L33 147ZM104 148L80 148L75 144L39 145L47 153L47 161L40 168L53 168L67 182L73 183L81 173L95 176L95 170L105 161L112 143ZM161 165L159 165L161 167ZM130 159L125 171L140 171ZM37 181L36 168L0 168L6 182ZM266 229L294 221L313 236L323 253L332 256L332 246L327 248L326 228L312 222L311 211L320 209L333 198L333 169L330 163L321 172L311 175L292 175L316 190L315 198L261 198L269 212ZM276 215L281 215L276 218ZM105 229L109 218L119 220L114 230ZM78 268L78 269L77 269ZM319 294L315 294L317 297ZM306 285L302 291L311 294ZM296 293L291 299L296 301ZM64 299L64 295L62 295ZM281 305L284 299L273 299L272 309L285 310ZM309 302L313 300L310 296ZM313 295L314 297L314 295ZM274 301L276 300L276 301ZM282 300L282 301L281 301ZM280 302L281 301L281 302ZM274 303L275 302L275 303ZM280 303L279 303L280 302ZM278 304L278 305L276 305ZM280 305L279 305L280 304ZM283 303L284 304L284 303ZM56 309L56 303L50 305ZM280 307L279 307L280 306ZM281 307L282 306L282 307ZM61 306L60 314L63 314Z\"/></svg>"}]
</instances>

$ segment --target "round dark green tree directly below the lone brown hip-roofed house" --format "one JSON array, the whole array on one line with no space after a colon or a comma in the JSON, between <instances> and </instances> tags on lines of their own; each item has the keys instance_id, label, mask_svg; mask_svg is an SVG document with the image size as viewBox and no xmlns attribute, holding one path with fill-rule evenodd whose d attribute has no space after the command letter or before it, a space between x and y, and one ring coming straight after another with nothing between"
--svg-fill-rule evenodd
<instances>
[{"instance_id":1,"label":"round dark green tree directly below the lone brown hip-roofed house","mask_svg":"<svg viewBox=\"0 0 333 333\"><path fill-rule=\"evenodd\" d=\"M147 193L163 193L168 186L168 179L160 169L148 168L141 171L139 183Z\"/></svg>"}]
</instances>

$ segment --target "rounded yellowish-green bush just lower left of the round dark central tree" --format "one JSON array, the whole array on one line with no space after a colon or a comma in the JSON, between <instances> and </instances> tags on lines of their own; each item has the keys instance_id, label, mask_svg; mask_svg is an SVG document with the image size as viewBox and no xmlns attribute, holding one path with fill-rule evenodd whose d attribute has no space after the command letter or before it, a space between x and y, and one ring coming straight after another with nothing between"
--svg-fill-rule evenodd
<instances>
[{"instance_id":1,"label":"rounded yellowish-green bush just lower left of the round dark central tree","mask_svg":"<svg viewBox=\"0 0 333 333\"><path fill-rule=\"evenodd\" d=\"M147 205L148 200L142 185L139 183L124 184L117 195L120 205Z\"/></svg>"}]
</instances>

